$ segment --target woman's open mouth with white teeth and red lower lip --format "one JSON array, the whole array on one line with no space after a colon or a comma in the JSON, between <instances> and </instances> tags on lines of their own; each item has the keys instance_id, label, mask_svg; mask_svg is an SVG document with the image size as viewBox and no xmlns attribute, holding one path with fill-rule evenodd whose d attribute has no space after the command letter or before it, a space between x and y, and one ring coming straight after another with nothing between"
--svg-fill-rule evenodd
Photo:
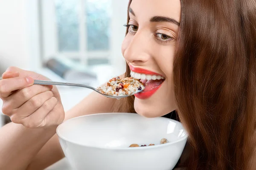
<instances>
[{"instance_id":1,"label":"woman's open mouth with white teeth and red lower lip","mask_svg":"<svg viewBox=\"0 0 256 170\"><path fill-rule=\"evenodd\" d=\"M135 95L140 99L146 99L152 96L165 81L165 78L160 75L140 74L134 71L131 71L131 77L139 79L145 86L145 89L142 92Z\"/></svg>"}]
</instances>

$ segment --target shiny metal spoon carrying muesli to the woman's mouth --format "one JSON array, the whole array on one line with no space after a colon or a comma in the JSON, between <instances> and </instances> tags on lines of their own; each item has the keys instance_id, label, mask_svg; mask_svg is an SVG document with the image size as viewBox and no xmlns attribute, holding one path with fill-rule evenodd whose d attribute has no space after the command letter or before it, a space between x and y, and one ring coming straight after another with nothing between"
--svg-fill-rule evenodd
<instances>
[{"instance_id":1,"label":"shiny metal spoon carrying muesli to the woman's mouth","mask_svg":"<svg viewBox=\"0 0 256 170\"><path fill-rule=\"evenodd\" d=\"M0 80L2 79L2 77L0 77ZM132 96L136 93L139 93L143 90L140 91L136 91L134 93L132 93L131 95L120 95L120 96L111 96L111 95L106 95L103 94L101 91L99 91L96 88L93 88L89 85L82 85L82 84L76 84L76 83L68 83L68 82L53 82L53 81L47 81L47 80L34 80L34 85L66 85L66 86L76 86L76 87L82 87L82 88L90 88L93 91L96 91L99 94L102 94L105 97L109 97L109 98L114 98L114 99L121 99L124 97L128 97L128 96Z\"/></svg>"}]
</instances>

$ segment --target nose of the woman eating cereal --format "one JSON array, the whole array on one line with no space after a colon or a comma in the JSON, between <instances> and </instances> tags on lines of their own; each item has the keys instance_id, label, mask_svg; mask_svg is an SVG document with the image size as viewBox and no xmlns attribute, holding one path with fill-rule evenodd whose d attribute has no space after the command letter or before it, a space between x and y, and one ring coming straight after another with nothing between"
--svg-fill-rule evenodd
<instances>
[{"instance_id":1,"label":"nose of the woman eating cereal","mask_svg":"<svg viewBox=\"0 0 256 170\"><path fill-rule=\"evenodd\" d=\"M143 32L137 32L133 37L129 37L124 45L125 60L133 65L143 65L150 59L148 36Z\"/></svg>"}]
</instances>

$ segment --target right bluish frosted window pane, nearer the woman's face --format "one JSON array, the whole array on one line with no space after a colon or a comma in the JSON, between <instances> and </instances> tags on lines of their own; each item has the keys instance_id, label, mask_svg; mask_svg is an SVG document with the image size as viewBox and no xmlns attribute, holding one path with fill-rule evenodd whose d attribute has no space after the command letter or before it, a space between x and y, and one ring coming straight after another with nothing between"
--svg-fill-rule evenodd
<instances>
[{"instance_id":1,"label":"right bluish frosted window pane, nearer the woman's face","mask_svg":"<svg viewBox=\"0 0 256 170\"><path fill-rule=\"evenodd\" d=\"M111 0L85 0L88 51L109 50Z\"/></svg>"}]
</instances>

